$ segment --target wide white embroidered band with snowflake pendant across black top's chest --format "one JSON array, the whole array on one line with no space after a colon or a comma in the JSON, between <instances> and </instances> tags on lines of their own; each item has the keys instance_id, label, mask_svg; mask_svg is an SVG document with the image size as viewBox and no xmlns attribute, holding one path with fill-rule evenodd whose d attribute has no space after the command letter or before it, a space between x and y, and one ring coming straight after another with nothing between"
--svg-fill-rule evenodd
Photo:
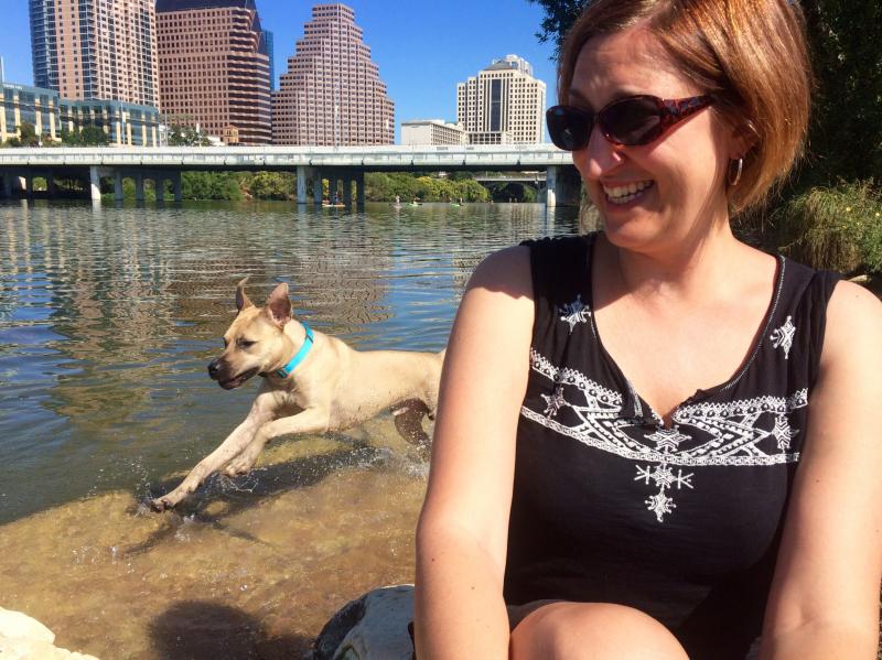
<instances>
[{"instance_id":1,"label":"wide white embroidered band with snowflake pendant across black top's chest","mask_svg":"<svg viewBox=\"0 0 882 660\"><path fill-rule=\"evenodd\" d=\"M658 487L644 500L658 522L676 508L673 487L695 489L696 473L680 468L799 461L799 453L789 451L798 430L790 426L787 414L808 404L806 388L786 398L766 394L681 405L674 412L671 429L659 426L647 434L643 420L622 416L624 401L619 392L576 369L553 366L533 348L530 368L556 383L555 393L542 396L546 408L541 412L524 404L520 414L588 446L639 462L634 480ZM566 415L561 414L564 410Z\"/></svg>"}]
</instances>

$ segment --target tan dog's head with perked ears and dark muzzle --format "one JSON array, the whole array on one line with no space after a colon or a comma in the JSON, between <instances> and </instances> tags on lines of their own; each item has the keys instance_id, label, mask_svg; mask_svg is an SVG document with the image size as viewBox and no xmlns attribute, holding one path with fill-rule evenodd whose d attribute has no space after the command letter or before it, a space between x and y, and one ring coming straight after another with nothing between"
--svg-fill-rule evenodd
<instances>
[{"instance_id":1,"label":"tan dog's head with perked ears and dark muzzle","mask_svg":"<svg viewBox=\"0 0 882 660\"><path fill-rule=\"evenodd\" d=\"M208 365L208 376L225 390L239 387L257 374L278 369L290 353L290 339L282 328L291 321L288 284L282 282L257 307L245 293L245 278L236 286L238 314L224 333L224 353Z\"/></svg>"}]
</instances>

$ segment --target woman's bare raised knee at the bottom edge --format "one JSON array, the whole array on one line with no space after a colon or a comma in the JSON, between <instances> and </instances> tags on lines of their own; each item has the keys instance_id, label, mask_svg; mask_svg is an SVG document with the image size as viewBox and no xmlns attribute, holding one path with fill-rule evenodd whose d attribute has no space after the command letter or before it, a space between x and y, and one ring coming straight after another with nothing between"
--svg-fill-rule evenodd
<instances>
[{"instance_id":1,"label":"woman's bare raised knee at the bottom edge","mask_svg":"<svg viewBox=\"0 0 882 660\"><path fill-rule=\"evenodd\" d=\"M650 616L609 603L553 603L527 616L512 632L513 660L688 660L686 651Z\"/></svg>"}]
</instances>

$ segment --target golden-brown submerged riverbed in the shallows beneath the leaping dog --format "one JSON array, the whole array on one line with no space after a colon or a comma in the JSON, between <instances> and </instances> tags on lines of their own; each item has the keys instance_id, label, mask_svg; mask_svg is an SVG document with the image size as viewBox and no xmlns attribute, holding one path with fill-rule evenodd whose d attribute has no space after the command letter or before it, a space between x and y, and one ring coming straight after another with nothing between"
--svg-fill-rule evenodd
<instances>
[{"instance_id":1,"label":"golden-brown submerged riverbed in the shallows beneath the leaping dog","mask_svg":"<svg viewBox=\"0 0 882 660\"><path fill-rule=\"evenodd\" d=\"M426 465L388 419L365 437L270 447L183 516L112 493L3 526L0 605L101 660L304 657L347 601L413 578Z\"/></svg>"}]
</instances>

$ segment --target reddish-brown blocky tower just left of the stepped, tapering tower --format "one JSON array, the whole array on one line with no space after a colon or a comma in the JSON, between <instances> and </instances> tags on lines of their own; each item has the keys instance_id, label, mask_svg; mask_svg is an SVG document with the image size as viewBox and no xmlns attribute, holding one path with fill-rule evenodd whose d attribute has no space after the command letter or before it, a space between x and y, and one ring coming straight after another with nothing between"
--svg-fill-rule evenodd
<instances>
[{"instance_id":1,"label":"reddish-brown blocky tower just left of the stepped, tapering tower","mask_svg":"<svg viewBox=\"0 0 882 660\"><path fill-rule=\"evenodd\" d=\"M269 143L270 57L255 0L157 0L157 26L170 120Z\"/></svg>"}]
</instances>

